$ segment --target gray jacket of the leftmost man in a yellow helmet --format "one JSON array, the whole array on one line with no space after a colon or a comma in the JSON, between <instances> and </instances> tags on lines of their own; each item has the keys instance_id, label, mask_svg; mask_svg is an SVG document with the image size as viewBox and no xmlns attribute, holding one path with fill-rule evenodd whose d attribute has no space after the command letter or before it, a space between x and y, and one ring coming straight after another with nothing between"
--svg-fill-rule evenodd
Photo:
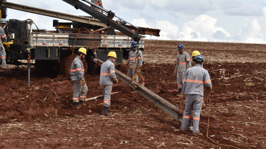
<instances>
[{"instance_id":1,"label":"gray jacket of the leftmost man in a yellow helmet","mask_svg":"<svg viewBox=\"0 0 266 149\"><path fill-rule=\"evenodd\" d=\"M71 81L83 80L84 79L84 67L82 60L77 56L72 62L70 70Z\"/></svg>"}]
</instances>

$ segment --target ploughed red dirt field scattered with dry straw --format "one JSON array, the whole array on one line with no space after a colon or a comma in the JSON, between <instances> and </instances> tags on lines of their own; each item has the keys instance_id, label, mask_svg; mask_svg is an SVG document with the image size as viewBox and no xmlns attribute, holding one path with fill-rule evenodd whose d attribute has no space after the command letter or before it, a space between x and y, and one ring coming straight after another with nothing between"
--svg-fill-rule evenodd
<instances>
[{"instance_id":1,"label":"ploughed red dirt field scattered with dry straw","mask_svg":"<svg viewBox=\"0 0 266 149\"><path fill-rule=\"evenodd\" d=\"M142 72L145 87L180 108L176 76L172 76L178 43L181 41L146 40ZM205 58L203 67L211 76L212 139L237 148L266 148L266 46L182 43L190 55L200 51ZM86 74L87 98L102 94L99 68L96 75ZM127 72L124 65L116 68ZM230 148L206 137L207 108L200 119L203 136L194 137L192 131L181 134L179 122L141 94L130 93L130 87L121 81L113 85L112 92L122 92L111 95L112 116L102 116L102 105L94 105L103 98L72 109L74 86L64 75L32 68L29 88L27 72L18 68L0 72L0 78L0 148Z\"/></svg>"}]
</instances>

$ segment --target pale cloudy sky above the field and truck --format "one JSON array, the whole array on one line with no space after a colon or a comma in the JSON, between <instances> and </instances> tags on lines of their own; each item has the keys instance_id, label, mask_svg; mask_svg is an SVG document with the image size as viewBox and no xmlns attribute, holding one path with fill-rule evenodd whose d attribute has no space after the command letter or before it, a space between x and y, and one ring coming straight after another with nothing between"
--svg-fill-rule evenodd
<instances>
[{"instance_id":1,"label":"pale cloudy sky above the field and truck","mask_svg":"<svg viewBox=\"0 0 266 149\"><path fill-rule=\"evenodd\" d=\"M41 9L86 16L61 0L7 0ZM104 8L135 26L160 29L146 39L266 43L266 0L102 0ZM55 18L7 10L7 19L32 19L54 30ZM59 20L60 22L69 22Z\"/></svg>"}]
</instances>

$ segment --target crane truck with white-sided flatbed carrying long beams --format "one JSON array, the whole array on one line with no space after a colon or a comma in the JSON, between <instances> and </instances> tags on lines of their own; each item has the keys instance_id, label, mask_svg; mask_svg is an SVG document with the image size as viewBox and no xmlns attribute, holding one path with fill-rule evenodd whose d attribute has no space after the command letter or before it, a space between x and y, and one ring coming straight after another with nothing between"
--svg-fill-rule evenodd
<instances>
[{"instance_id":1,"label":"crane truck with white-sided flatbed carrying long beams","mask_svg":"<svg viewBox=\"0 0 266 149\"><path fill-rule=\"evenodd\" d=\"M49 67L59 70L57 67L61 66L60 70L68 70L70 69L69 65L59 65L59 63L64 62L64 59L70 55L76 54L81 47L86 48L87 51L96 47L98 49L97 58L103 61L107 59L107 54L111 50L115 51L117 63L122 63L122 59L128 56L132 40L138 43L139 50L144 50L145 36L143 35L159 36L160 30L136 27L116 16L112 11L107 11L91 1L62 1L91 16L74 16L0 0L1 18L6 18L6 9L9 8L72 21L60 23L58 20L54 20L53 27L56 28L56 31L46 31L40 30L37 26L37 29L34 30L35 23L31 19L7 20L7 26L4 29L9 41L12 41L4 43L7 64L22 65L20 60L28 60L28 63L30 60L35 60L36 68ZM91 6L101 9L104 13ZM114 21L113 18L118 18L118 20Z\"/></svg>"}]
</instances>

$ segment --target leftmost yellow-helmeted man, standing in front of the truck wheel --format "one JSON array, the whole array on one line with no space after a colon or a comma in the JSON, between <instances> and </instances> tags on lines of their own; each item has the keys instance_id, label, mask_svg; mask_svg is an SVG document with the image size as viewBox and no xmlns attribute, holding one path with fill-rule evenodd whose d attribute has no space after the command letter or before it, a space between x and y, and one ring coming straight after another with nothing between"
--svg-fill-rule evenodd
<instances>
[{"instance_id":1,"label":"leftmost yellow-helmeted man, standing in front of the truck wheel","mask_svg":"<svg viewBox=\"0 0 266 149\"><path fill-rule=\"evenodd\" d=\"M86 56L87 50L79 48L78 56L73 60L70 70L71 81L74 82L73 108L80 109L86 106L83 101L86 99L88 87L84 78L84 67L82 60Z\"/></svg>"}]
</instances>

